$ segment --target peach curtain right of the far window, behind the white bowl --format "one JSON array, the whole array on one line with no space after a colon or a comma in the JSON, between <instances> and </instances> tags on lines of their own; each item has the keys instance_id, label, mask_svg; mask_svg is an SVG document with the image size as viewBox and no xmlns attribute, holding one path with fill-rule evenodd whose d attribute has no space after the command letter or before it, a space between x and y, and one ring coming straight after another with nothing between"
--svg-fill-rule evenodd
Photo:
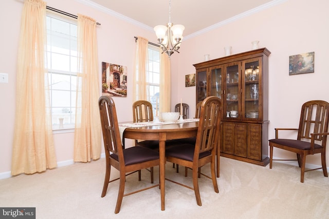
<instances>
[{"instance_id":1,"label":"peach curtain right of the far window, behind the white bowl","mask_svg":"<svg viewBox=\"0 0 329 219\"><path fill-rule=\"evenodd\" d=\"M171 67L170 58L160 48L160 112L170 112L171 102Z\"/></svg>"}]
</instances>

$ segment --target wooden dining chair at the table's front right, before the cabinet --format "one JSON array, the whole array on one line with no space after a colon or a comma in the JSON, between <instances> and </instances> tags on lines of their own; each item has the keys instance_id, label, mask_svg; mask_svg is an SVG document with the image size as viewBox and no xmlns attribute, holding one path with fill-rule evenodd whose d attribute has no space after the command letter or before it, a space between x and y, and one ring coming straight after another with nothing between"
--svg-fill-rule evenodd
<instances>
[{"instance_id":1,"label":"wooden dining chair at the table's front right, before the cabinet","mask_svg":"<svg viewBox=\"0 0 329 219\"><path fill-rule=\"evenodd\" d=\"M181 144L166 149L167 161L192 169L193 188L167 179L170 182L194 190L197 205L202 206L199 186L198 170L210 163L211 180L216 193L218 186L215 174L215 157L217 151L218 136L220 135L222 102L215 96L204 99L198 124L195 145Z\"/></svg>"}]
</instances>

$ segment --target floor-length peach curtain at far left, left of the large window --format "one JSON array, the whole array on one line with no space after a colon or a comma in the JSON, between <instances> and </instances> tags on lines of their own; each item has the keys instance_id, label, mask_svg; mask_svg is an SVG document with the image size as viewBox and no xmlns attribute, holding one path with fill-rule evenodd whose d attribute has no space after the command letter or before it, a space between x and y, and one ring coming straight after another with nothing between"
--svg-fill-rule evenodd
<instances>
[{"instance_id":1,"label":"floor-length peach curtain at far left, left of the large window","mask_svg":"<svg viewBox=\"0 0 329 219\"><path fill-rule=\"evenodd\" d=\"M16 114L11 174L57 166L45 65L46 3L25 0L16 75Z\"/></svg>"}]
</instances>

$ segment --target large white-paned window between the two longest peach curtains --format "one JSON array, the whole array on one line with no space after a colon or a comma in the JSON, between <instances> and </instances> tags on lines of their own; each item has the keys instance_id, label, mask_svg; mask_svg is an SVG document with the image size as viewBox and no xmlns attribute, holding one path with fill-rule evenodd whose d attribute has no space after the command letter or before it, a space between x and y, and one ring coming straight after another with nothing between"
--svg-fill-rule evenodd
<instances>
[{"instance_id":1,"label":"large white-paned window between the two longest peach curtains","mask_svg":"<svg viewBox=\"0 0 329 219\"><path fill-rule=\"evenodd\" d=\"M52 129L75 126L77 21L47 14L47 68Z\"/></svg>"}]
</instances>

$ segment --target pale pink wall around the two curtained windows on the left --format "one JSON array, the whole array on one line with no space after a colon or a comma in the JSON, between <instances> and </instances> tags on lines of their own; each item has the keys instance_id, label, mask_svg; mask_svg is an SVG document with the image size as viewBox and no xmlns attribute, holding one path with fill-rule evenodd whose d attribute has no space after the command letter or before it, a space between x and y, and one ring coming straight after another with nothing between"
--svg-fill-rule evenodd
<instances>
[{"instance_id":1,"label":"pale pink wall around the two curtained windows on the left","mask_svg":"<svg viewBox=\"0 0 329 219\"><path fill-rule=\"evenodd\" d=\"M12 142L15 119L15 81L16 59L23 0L0 2L0 72L9 74L9 83L0 84L0 179L10 176ZM135 38L143 36L155 42L156 36L151 28L132 24L109 14L100 6L79 4L79 1L46 0L47 6L77 15L78 13L93 17L101 26L97 27L99 73L101 79L101 62L126 66L128 69L127 97L115 97L118 120L132 121L132 84L133 64L135 57ZM83 1L81 1L83 2ZM97 9L95 9L97 8ZM101 92L101 91L100 91ZM74 133L54 134L57 162L61 165L73 160ZM102 149L103 150L103 149Z\"/></svg>"}]
</instances>

